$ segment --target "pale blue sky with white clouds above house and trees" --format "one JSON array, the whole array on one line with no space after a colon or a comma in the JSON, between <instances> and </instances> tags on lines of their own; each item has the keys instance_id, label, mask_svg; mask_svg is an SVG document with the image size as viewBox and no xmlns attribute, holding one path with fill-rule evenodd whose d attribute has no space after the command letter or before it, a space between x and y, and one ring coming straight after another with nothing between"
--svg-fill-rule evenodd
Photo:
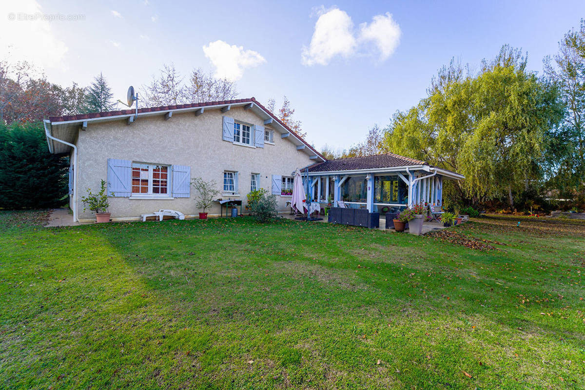
<instances>
[{"instance_id":1,"label":"pale blue sky with white clouds above house and trees","mask_svg":"<svg viewBox=\"0 0 585 390\"><path fill-rule=\"evenodd\" d=\"M584 1L2 1L0 54L33 61L64 85L87 85L102 71L116 99L164 63L183 74L223 72L242 98L278 106L287 95L316 147L347 148L417 103L452 57L477 68L507 43L528 51L541 73L543 57L583 16Z\"/></svg>"}]
</instances>

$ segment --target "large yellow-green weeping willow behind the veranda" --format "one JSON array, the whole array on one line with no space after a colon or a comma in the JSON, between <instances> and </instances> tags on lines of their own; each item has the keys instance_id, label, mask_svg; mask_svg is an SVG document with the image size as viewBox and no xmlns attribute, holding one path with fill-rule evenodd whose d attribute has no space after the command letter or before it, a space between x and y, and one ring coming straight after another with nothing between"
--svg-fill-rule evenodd
<instances>
[{"instance_id":1,"label":"large yellow-green weeping willow behind the veranda","mask_svg":"<svg viewBox=\"0 0 585 390\"><path fill-rule=\"evenodd\" d=\"M545 134L560 120L556 89L526 71L526 56L504 46L473 74L452 61L428 96L388 127L384 149L466 178L445 188L458 203L506 197L538 181Z\"/></svg>"}]
</instances>

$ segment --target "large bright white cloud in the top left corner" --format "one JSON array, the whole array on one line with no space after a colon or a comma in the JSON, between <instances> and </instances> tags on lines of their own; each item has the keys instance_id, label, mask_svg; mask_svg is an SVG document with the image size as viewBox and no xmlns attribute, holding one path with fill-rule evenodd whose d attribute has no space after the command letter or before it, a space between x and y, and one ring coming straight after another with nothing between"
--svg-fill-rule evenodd
<instances>
[{"instance_id":1,"label":"large bright white cloud in the top left corner","mask_svg":"<svg viewBox=\"0 0 585 390\"><path fill-rule=\"evenodd\" d=\"M21 14L32 18L21 20ZM35 0L0 2L0 17L4 18L0 22L0 59L26 60L43 68L67 68L63 61L67 45L54 34L49 20L35 15L44 15Z\"/></svg>"}]
</instances>

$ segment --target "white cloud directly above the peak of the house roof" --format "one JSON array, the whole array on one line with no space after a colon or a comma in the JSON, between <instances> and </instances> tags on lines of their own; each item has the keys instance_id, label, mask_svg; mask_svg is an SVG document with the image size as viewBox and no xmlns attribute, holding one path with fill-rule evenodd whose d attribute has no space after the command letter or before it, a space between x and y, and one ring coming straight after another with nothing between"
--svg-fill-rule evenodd
<instances>
[{"instance_id":1,"label":"white cloud directly above the peak of the house roof","mask_svg":"<svg viewBox=\"0 0 585 390\"><path fill-rule=\"evenodd\" d=\"M243 46L230 45L222 40L203 46L203 52L215 67L215 77L232 81L240 80L246 68L266 62L256 51L244 50Z\"/></svg>"}]
</instances>

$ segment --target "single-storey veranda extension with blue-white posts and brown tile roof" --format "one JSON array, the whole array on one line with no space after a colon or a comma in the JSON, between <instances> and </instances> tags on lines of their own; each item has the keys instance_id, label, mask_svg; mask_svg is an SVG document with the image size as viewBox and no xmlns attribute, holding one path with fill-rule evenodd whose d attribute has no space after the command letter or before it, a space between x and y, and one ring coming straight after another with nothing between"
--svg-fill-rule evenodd
<instances>
[{"instance_id":1,"label":"single-storey veranda extension with blue-white posts and brown tile roof","mask_svg":"<svg viewBox=\"0 0 585 390\"><path fill-rule=\"evenodd\" d=\"M462 180L461 174L426 161L387 153L316 162L305 169L309 194L321 202L343 201L370 212L443 204L443 180ZM383 210L384 209L384 210Z\"/></svg>"}]
</instances>

